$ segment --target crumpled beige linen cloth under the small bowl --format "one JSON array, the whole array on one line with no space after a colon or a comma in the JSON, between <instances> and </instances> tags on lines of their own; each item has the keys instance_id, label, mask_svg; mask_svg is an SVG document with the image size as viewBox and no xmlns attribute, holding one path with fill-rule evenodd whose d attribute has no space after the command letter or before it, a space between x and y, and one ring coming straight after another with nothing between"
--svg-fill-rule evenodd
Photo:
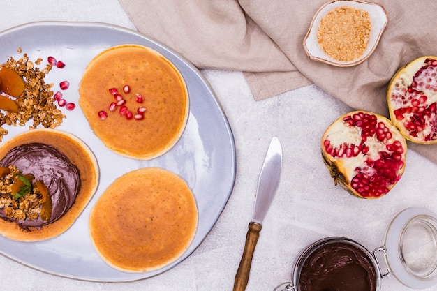
<instances>
[{"instance_id":1,"label":"crumpled beige linen cloth under the small bowl","mask_svg":"<svg viewBox=\"0 0 437 291\"><path fill-rule=\"evenodd\" d=\"M364 63L339 68L312 61L303 40L325 0L119 0L135 27L198 68L244 72L255 100L316 84L357 110L387 116L396 71L437 55L436 0L382 0L389 22ZM311 109L309 109L311 110ZM437 145L409 147L437 163Z\"/></svg>"}]
</instances>

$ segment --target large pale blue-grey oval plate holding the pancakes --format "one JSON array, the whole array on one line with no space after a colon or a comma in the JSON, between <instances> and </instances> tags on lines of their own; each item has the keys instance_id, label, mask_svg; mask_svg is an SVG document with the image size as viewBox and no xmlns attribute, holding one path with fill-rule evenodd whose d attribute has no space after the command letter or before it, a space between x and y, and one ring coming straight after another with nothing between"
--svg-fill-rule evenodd
<instances>
[{"instance_id":1,"label":"large pale blue-grey oval plate holding the pancakes","mask_svg":"<svg viewBox=\"0 0 437 291\"><path fill-rule=\"evenodd\" d=\"M0 237L0 253L29 267L58 276L86 281L123 282L156 276L188 257L212 229L228 202L235 181L235 144L228 121L214 92L198 69L179 54L172 52L142 34L109 24L81 22L35 22L0 33L0 61L8 57L29 55L30 61L47 57L64 61L65 68L52 68L46 83L59 90L59 82L68 80L70 88L62 91L68 102L78 100L78 85L84 68L96 54L114 45L137 43L161 52L180 70L190 96L190 114L181 139L167 154L151 161L124 158L106 148L92 133L80 107L67 111L58 129L80 137L94 151L101 178L96 195L87 208L64 234L41 242L11 241ZM28 130L27 126L6 127L9 134L3 141ZM122 133L120 133L122 138ZM145 137L147 138L147 137ZM0 143L1 146L1 143ZM198 205L199 223L193 243L177 261L162 269L145 273L117 271L98 256L91 244L88 230L89 211L105 188L122 174L140 167L162 167L184 178L192 189ZM142 207L147 207L142 206Z\"/></svg>"}]
</instances>

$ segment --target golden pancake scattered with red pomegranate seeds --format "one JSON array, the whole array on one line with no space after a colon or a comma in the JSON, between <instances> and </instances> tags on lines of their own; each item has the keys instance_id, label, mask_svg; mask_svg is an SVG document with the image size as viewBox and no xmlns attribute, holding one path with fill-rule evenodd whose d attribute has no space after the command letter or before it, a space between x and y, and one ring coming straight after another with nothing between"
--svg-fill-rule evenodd
<instances>
[{"instance_id":1,"label":"golden pancake scattered with red pomegranate seeds","mask_svg":"<svg viewBox=\"0 0 437 291\"><path fill-rule=\"evenodd\" d=\"M126 85L128 93L123 91ZM110 89L117 89L126 100L114 111L109 106L117 100ZM144 98L142 103L137 94ZM165 154L182 136L188 120L189 98L182 75L161 54L140 45L119 45L98 54L84 70L79 95L94 134L106 147L129 158L149 160ZM121 114L122 106L133 116ZM140 107L147 111L135 119Z\"/></svg>"}]
</instances>

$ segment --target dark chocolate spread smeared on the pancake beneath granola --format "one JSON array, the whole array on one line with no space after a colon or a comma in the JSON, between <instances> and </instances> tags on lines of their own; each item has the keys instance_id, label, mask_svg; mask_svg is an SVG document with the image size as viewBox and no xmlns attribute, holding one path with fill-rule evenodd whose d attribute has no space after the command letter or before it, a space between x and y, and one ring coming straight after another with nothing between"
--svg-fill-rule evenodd
<instances>
[{"instance_id":1,"label":"dark chocolate spread smeared on the pancake beneath granola","mask_svg":"<svg viewBox=\"0 0 437 291\"><path fill-rule=\"evenodd\" d=\"M8 165L15 165L23 174L33 174L35 181L43 181L52 197L52 216L47 221L39 217L16 221L23 229L42 227L57 221L73 205L80 189L79 170L54 147L40 143L22 144L8 151L0 161L0 166ZM10 220L3 209L0 209L0 218Z\"/></svg>"}]
</instances>

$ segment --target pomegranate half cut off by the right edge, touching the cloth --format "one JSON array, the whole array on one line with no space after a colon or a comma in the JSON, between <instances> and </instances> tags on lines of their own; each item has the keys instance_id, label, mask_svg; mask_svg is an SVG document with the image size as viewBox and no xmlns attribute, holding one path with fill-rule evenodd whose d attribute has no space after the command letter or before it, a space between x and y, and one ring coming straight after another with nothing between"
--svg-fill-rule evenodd
<instances>
[{"instance_id":1,"label":"pomegranate half cut off by the right edge, touching the cloth","mask_svg":"<svg viewBox=\"0 0 437 291\"><path fill-rule=\"evenodd\" d=\"M388 85L387 103L392 123L407 140L437 143L437 57L400 68Z\"/></svg>"}]
</instances>

